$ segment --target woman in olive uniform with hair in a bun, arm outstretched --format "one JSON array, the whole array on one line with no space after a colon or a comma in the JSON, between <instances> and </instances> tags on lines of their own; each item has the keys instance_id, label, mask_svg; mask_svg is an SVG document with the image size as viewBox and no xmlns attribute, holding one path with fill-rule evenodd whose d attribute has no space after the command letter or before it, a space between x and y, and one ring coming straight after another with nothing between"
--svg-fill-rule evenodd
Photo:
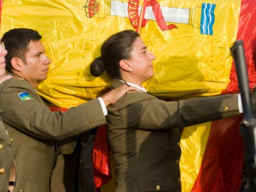
<instances>
[{"instance_id":1,"label":"woman in olive uniform with hair in a bun, arm outstretched","mask_svg":"<svg viewBox=\"0 0 256 192\"><path fill-rule=\"evenodd\" d=\"M112 87L130 85L139 89L107 107L116 192L181 191L179 142L183 127L242 112L237 94L175 102L149 95L142 83L153 77L154 59L139 33L126 30L107 38L101 56L90 65L94 76L106 70L113 78Z\"/></svg>"}]
</instances>

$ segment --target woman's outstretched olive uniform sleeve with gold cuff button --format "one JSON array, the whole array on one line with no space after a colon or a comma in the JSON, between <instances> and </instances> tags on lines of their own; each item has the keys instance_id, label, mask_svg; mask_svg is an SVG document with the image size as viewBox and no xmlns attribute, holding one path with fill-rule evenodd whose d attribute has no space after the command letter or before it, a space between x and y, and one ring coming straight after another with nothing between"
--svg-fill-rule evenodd
<instances>
[{"instance_id":1,"label":"woman's outstretched olive uniform sleeve with gold cuff button","mask_svg":"<svg viewBox=\"0 0 256 192\"><path fill-rule=\"evenodd\" d=\"M142 100L109 114L108 122L113 128L124 124L124 127L137 129L168 129L235 117L239 114L238 95L234 94L177 102Z\"/></svg>"}]
</instances>

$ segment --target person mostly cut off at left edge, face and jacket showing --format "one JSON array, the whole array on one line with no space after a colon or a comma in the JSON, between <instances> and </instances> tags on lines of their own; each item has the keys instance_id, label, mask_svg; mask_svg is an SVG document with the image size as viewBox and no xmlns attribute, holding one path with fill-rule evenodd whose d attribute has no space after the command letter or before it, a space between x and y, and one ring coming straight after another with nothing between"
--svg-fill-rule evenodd
<instances>
[{"instance_id":1,"label":"person mostly cut off at left edge, face and jacket showing","mask_svg":"<svg viewBox=\"0 0 256 192\"><path fill-rule=\"evenodd\" d=\"M5 58L7 51L3 46L0 46L0 84L5 80L11 78L11 75L6 75L5 70ZM0 191L6 192L11 191L10 184L15 181L15 164L14 164L14 154L11 151L11 139L6 132L4 123L0 116Z\"/></svg>"}]
</instances>

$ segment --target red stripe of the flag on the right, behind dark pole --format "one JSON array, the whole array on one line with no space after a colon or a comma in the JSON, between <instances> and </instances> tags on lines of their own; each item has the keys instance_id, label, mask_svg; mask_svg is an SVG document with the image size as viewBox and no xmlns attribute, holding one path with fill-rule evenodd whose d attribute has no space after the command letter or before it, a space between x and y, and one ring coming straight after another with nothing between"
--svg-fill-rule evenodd
<instances>
[{"instance_id":1,"label":"red stripe of the flag on the right, behind dark pole","mask_svg":"<svg viewBox=\"0 0 256 192\"><path fill-rule=\"evenodd\" d=\"M255 87L256 83L255 18L256 1L242 0L237 39L244 41L250 89ZM223 94L238 91L238 80L233 63L230 70L230 83ZM244 155L239 129L241 120L242 117L213 122L201 169L191 191L239 191Z\"/></svg>"}]
</instances>

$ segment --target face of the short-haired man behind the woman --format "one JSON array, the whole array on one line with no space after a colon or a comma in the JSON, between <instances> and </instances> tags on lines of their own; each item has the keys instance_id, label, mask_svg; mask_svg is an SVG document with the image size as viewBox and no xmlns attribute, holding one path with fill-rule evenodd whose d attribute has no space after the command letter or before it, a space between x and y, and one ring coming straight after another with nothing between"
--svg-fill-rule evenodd
<instances>
[{"instance_id":1,"label":"face of the short-haired man behind the woman","mask_svg":"<svg viewBox=\"0 0 256 192\"><path fill-rule=\"evenodd\" d=\"M23 61L23 78L36 87L38 82L47 78L49 64L50 59L46 56L41 41L31 41L26 52L26 60Z\"/></svg>"}]
</instances>

